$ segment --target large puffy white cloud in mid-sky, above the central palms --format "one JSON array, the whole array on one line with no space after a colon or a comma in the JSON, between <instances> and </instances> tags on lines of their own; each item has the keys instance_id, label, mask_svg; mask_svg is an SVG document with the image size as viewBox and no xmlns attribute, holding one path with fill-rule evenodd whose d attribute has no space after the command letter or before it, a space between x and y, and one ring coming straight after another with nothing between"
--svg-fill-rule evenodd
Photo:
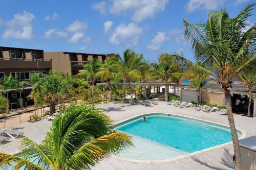
<instances>
[{"instance_id":1,"label":"large puffy white cloud in mid-sky, above the central palms","mask_svg":"<svg viewBox=\"0 0 256 170\"><path fill-rule=\"evenodd\" d=\"M112 44L124 43L126 46L136 45L139 36L143 33L143 28L138 27L135 23L121 23L109 38Z\"/></svg>"}]
</instances>

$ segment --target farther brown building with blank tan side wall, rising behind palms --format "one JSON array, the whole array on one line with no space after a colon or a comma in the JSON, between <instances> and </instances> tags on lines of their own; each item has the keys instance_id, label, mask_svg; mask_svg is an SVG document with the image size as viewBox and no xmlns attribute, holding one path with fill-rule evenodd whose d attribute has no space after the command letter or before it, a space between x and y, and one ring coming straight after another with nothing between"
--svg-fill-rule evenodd
<instances>
[{"instance_id":1,"label":"farther brown building with blank tan side wall, rising behind palms","mask_svg":"<svg viewBox=\"0 0 256 170\"><path fill-rule=\"evenodd\" d=\"M52 60L52 69L63 72L65 75L76 75L78 70L83 69L83 65L88 59L96 59L104 62L115 54L87 54L71 52L45 52L45 58Z\"/></svg>"}]
</instances>

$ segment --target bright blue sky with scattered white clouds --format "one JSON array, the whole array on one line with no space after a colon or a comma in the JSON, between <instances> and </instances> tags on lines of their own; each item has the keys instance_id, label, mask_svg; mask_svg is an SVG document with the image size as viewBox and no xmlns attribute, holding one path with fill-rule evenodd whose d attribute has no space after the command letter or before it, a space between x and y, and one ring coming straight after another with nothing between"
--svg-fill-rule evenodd
<instances>
[{"instance_id":1,"label":"bright blue sky with scattered white clouds","mask_svg":"<svg viewBox=\"0 0 256 170\"><path fill-rule=\"evenodd\" d=\"M233 17L249 3L256 0L0 0L0 46L97 54L131 48L149 61L160 53L194 61L183 18L206 21L222 8Z\"/></svg>"}]
</instances>

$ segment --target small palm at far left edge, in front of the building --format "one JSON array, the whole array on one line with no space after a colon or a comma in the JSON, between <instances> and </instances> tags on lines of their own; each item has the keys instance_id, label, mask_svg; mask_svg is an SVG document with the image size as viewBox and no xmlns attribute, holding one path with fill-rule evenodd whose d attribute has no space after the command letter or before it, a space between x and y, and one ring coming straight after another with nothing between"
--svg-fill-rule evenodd
<instances>
[{"instance_id":1,"label":"small palm at far left edge, in front of the building","mask_svg":"<svg viewBox=\"0 0 256 170\"><path fill-rule=\"evenodd\" d=\"M12 89L23 88L23 84L19 82L17 77L13 77L12 75L6 76L4 79L0 79L0 85L2 86L2 93L6 95L6 113L10 113L9 111L9 91Z\"/></svg>"}]
</instances>

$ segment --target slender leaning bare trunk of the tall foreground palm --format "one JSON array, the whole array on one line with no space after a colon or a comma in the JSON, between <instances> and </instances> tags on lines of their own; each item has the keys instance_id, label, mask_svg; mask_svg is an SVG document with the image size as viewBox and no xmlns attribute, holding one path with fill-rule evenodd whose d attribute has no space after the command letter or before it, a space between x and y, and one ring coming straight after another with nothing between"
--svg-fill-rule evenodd
<instances>
[{"instance_id":1,"label":"slender leaning bare trunk of the tall foreground palm","mask_svg":"<svg viewBox=\"0 0 256 170\"><path fill-rule=\"evenodd\" d=\"M233 141L234 157L236 158L236 169L242 170L242 161L241 161L241 154L239 149L238 134L236 130L236 125L234 124L234 117L233 117L232 107L231 107L231 95L230 95L230 91L227 88L224 88L224 92L225 92L225 102L226 102L226 109L227 109L227 118L228 118L228 123L230 126L232 141Z\"/></svg>"}]
</instances>

